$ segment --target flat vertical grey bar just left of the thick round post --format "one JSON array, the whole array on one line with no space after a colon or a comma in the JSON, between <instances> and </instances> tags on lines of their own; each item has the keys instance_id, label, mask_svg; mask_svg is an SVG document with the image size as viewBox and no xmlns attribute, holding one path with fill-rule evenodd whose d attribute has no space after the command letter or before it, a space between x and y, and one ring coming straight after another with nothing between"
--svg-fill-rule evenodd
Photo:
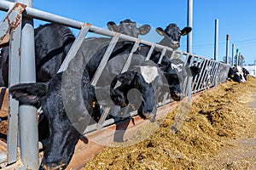
<instances>
[{"instance_id":1,"label":"flat vertical grey bar just left of the thick round post","mask_svg":"<svg viewBox=\"0 0 256 170\"><path fill-rule=\"evenodd\" d=\"M20 23L21 23L20 14ZM20 82L20 38L21 25L16 26L11 30L9 40L9 87ZM7 150L8 163L17 161L18 147L18 111L19 102L9 95L9 118L8 118L8 135L7 135Z\"/></svg>"}]
</instances>

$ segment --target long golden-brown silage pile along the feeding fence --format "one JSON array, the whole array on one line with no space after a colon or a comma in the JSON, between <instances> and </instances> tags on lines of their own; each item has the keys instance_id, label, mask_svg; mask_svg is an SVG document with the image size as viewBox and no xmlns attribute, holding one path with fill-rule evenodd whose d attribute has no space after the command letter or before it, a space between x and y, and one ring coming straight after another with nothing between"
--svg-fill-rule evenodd
<instances>
[{"instance_id":1,"label":"long golden-brown silage pile along the feeding fence","mask_svg":"<svg viewBox=\"0 0 256 170\"><path fill-rule=\"evenodd\" d=\"M193 101L184 122L177 125L176 119L180 108L187 109L185 104L170 112L150 138L129 147L108 147L84 169L207 169L204 160L216 156L226 141L256 139L256 115L247 107L255 92L253 77L218 85Z\"/></svg>"}]
</instances>

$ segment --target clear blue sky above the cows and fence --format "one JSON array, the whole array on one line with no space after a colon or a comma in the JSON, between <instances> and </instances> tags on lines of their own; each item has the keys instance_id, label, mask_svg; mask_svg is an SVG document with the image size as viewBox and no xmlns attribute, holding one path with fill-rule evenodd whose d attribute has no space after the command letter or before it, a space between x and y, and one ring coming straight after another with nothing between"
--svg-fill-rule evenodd
<instances>
[{"instance_id":1,"label":"clear blue sky above the cows and fence","mask_svg":"<svg viewBox=\"0 0 256 170\"><path fill-rule=\"evenodd\" d=\"M131 19L138 24L152 26L152 34L142 39L158 42L154 28L166 28L171 23L183 28L187 26L188 0L34 0L33 7L88 22L94 26L106 27L108 21L119 23ZM214 23L218 19L218 60L226 54L226 35L230 35L230 56L232 43L246 58L246 64L256 59L256 1L255 0L194 0L193 46L192 53L206 58L213 57ZM0 17L3 18L3 14ZM44 24L35 21L35 27ZM73 30L75 34L78 31ZM186 38L183 37L180 49L186 51ZM159 39L159 40L158 40Z\"/></svg>"}]
</instances>

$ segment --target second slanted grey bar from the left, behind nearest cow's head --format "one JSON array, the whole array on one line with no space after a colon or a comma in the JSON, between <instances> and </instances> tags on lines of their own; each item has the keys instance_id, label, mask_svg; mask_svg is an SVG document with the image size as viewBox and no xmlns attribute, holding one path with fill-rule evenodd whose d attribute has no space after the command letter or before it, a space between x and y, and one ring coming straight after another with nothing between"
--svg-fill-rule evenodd
<instances>
[{"instance_id":1,"label":"second slanted grey bar from the left, behind nearest cow's head","mask_svg":"<svg viewBox=\"0 0 256 170\"><path fill-rule=\"evenodd\" d=\"M113 52L113 48L115 47L115 44L119 40L120 33L116 33L115 36L113 36L111 42L109 42L109 46L107 48L106 53L104 54L100 65L98 66L96 73L94 74L94 77L92 78L91 85L96 86L96 83L98 82L99 78L102 75L102 71L104 70L105 66L108 64L108 59L110 57L110 54Z\"/></svg>"}]
</instances>

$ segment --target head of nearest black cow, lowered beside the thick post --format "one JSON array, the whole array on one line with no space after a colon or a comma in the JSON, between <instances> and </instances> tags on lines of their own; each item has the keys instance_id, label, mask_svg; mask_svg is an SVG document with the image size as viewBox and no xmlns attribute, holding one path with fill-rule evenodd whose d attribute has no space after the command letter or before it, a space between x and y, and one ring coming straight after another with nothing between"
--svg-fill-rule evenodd
<instances>
[{"instance_id":1,"label":"head of nearest black cow, lowered beside the thick post","mask_svg":"<svg viewBox=\"0 0 256 170\"><path fill-rule=\"evenodd\" d=\"M49 121L49 143L40 168L67 167L81 133L93 121L95 91L87 71L68 70L49 82L17 84L9 92L23 105L42 105Z\"/></svg>"}]
</instances>

